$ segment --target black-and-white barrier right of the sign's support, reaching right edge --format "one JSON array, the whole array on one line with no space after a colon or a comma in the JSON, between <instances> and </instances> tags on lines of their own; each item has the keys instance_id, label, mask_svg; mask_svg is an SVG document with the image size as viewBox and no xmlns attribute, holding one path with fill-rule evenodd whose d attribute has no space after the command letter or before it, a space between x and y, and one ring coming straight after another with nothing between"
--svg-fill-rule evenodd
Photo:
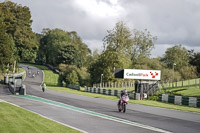
<instances>
[{"instance_id":1,"label":"black-and-white barrier right of the sign's support, reaching right edge","mask_svg":"<svg viewBox=\"0 0 200 133\"><path fill-rule=\"evenodd\" d=\"M186 97L186 96L174 96L168 94L159 94L158 101L177 104L177 105L185 105L191 107L200 107L200 98L197 97Z\"/></svg>"}]
</instances>

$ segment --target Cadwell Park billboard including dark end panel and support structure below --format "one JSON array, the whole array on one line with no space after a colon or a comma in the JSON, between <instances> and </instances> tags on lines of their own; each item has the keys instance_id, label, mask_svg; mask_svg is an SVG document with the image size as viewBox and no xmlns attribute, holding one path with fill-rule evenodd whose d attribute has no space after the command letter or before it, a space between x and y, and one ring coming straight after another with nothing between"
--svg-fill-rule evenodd
<instances>
[{"instance_id":1,"label":"Cadwell Park billboard including dark end panel and support structure below","mask_svg":"<svg viewBox=\"0 0 200 133\"><path fill-rule=\"evenodd\" d=\"M161 80L160 70L116 69L115 78L135 79L135 94L139 99L147 98L158 91L158 81Z\"/></svg>"}]
</instances>

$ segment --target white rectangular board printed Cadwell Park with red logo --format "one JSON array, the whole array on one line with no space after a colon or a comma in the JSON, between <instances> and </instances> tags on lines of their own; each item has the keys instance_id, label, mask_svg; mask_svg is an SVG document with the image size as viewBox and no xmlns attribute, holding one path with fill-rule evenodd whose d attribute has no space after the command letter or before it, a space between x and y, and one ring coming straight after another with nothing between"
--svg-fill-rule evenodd
<instances>
[{"instance_id":1,"label":"white rectangular board printed Cadwell Park with red logo","mask_svg":"<svg viewBox=\"0 0 200 133\"><path fill-rule=\"evenodd\" d=\"M124 69L124 79L160 80L160 70Z\"/></svg>"}]
</instances>

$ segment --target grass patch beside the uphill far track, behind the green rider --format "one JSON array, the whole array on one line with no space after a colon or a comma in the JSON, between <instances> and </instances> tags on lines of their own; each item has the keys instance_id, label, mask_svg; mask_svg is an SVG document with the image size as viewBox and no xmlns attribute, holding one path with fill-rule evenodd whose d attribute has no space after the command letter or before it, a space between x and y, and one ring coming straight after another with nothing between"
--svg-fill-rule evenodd
<instances>
[{"instance_id":1,"label":"grass patch beside the uphill far track, behind the green rider","mask_svg":"<svg viewBox=\"0 0 200 133\"><path fill-rule=\"evenodd\" d=\"M47 86L58 86L59 75L54 73L53 71L49 70L49 68L47 66L27 64L27 63L23 63L23 64L29 65L29 66L34 66L34 67L37 67L37 68L43 70L43 72L44 72L44 82Z\"/></svg>"}]
</instances>

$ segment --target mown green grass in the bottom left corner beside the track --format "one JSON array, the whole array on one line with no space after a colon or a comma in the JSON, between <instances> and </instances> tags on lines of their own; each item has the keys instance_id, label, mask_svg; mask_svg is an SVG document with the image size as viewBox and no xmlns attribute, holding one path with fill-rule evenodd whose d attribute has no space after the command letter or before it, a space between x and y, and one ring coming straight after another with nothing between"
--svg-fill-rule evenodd
<instances>
[{"instance_id":1,"label":"mown green grass in the bottom left corner beside the track","mask_svg":"<svg viewBox=\"0 0 200 133\"><path fill-rule=\"evenodd\" d=\"M78 133L22 108L0 102L1 133Z\"/></svg>"}]
</instances>

